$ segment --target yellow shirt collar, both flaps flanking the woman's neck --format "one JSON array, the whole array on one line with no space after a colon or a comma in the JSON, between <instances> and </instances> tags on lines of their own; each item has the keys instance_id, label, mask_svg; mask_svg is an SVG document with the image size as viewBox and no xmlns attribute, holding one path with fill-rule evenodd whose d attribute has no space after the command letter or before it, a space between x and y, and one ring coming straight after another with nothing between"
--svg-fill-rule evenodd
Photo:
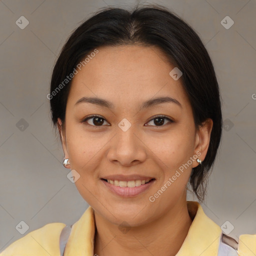
<instances>
[{"instance_id":1,"label":"yellow shirt collar, both flaps flanking the woman's neck","mask_svg":"<svg viewBox=\"0 0 256 256\"><path fill-rule=\"evenodd\" d=\"M192 224L176 256L217 256L221 228L213 222L196 201L187 201ZM93 255L95 233L94 210L89 206L72 225L65 255Z\"/></svg>"}]
</instances>

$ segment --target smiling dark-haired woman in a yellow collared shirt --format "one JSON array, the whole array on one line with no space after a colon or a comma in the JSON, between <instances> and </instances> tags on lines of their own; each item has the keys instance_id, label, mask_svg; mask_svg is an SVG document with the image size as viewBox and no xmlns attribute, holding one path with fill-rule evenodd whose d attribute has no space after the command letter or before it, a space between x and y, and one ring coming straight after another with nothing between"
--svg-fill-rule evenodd
<instances>
[{"instance_id":1,"label":"smiling dark-haired woman in a yellow collared shirt","mask_svg":"<svg viewBox=\"0 0 256 256\"><path fill-rule=\"evenodd\" d=\"M106 8L72 33L50 93L63 165L90 205L0 255L255 255L199 201L222 129L218 83L193 29L161 6Z\"/></svg>"}]
</instances>

